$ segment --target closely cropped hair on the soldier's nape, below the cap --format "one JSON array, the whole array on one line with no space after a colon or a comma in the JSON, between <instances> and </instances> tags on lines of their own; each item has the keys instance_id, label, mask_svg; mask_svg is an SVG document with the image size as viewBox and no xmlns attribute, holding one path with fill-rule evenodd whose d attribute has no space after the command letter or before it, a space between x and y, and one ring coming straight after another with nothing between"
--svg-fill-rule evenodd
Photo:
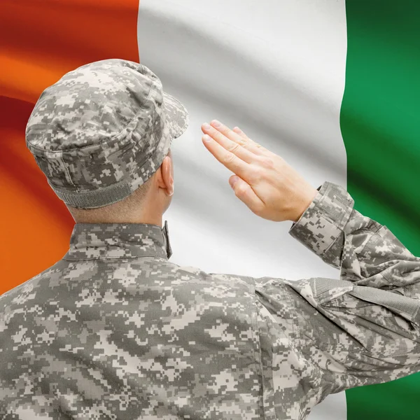
<instances>
[{"instance_id":1,"label":"closely cropped hair on the soldier's nape, below the cap","mask_svg":"<svg viewBox=\"0 0 420 420\"><path fill-rule=\"evenodd\" d=\"M129 217L134 211L138 211L139 207L144 203L148 190L151 188L152 178L153 176L141 184L133 193L116 203L97 207L96 209L79 209L71 207L69 204L66 204L66 207L76 223L111 223L116 214Z\"/></svg>"}]
</instances>

